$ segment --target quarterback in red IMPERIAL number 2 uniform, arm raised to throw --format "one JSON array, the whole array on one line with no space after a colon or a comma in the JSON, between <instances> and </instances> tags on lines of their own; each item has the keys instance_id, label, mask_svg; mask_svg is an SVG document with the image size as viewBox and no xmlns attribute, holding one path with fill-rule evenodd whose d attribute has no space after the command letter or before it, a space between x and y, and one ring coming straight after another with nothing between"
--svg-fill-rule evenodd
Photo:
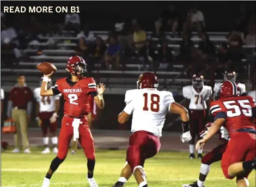
<instances>
[{"instance_id":1,"label":"quarterback in red IMPERIAL number 2 uniform, arm raised to throw","mask_svg":"<svg viewBox=\"0 0 256 187\"><path fill-rule=\"evenodd\" d=\"M65 100L64 117L59 132L59 152L57 157L52 160L42 187L50 186L52 174L66 158L72 136L74 136L75 141L80 141L84 154L86 154L88 160L87 179L90 186L98 187L93 177L95 150L87 119L90 110L88 97L92 95L97 106L102 109L104 107L102 94L105 91L105 86L100 83L96 87L93 78L86 77L86 62L81 56L70 57L66 63L66 70L71 74L71 77L58 79L54 88L47 90L48 77L53 72L49 75L44 75L44 79L42 80L41 96L52 96L62 93Z\"/></svg>"}]
</instances>

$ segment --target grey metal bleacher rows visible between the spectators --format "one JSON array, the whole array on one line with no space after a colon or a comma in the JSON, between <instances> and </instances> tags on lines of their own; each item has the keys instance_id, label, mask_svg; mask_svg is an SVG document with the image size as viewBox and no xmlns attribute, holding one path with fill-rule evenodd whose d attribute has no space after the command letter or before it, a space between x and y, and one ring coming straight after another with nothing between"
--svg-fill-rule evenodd
<instances>
[{"instance_id":1,"label":"grey metal bleacher rows visible between the spectators","mask_svg":"<svg viewBox=\"0 0 256 187\"><path fill-rule=\"evenodd\" d=\"M107 31L92 32L95 36L99 36L103 40L106 40L108 37ZM154 52L157 53L157 49L162 47L161 39L153 37L152 34L153 33L151 32L147 32L148 40L151 42L151 46L155 49ZM193 36L191 40L195 43L195 46L198 47L200 38L198 38L197 33L192 34ZM227 41L226 36L228 33L209 32L208 34L216 49L220 47L222 42ZM40 43L31 42L28 44L28 48L22 51L23 55L27 56L27 59L24 62L20 62L19 67L1 69L2 86L13 86L16 81L14 76L20 72L26 74L27 82L30 86L37 87L41 73L36 69L36 65L44 61L51 62L57 67L58 70L54 74L54 79L68 75L65 70L66 61L68 61L70 56L76 54L75 49L77 47L78 38L67 33L64 33L63 36L52 37L39 35L38 38ZM179 42L182 38L172 38L170 37L170 33L166 33L166 38L164 38L164 40L174 58L174 61L172 62L173 67L168 72L161 70L156 73L160 78L160 85L162 87L178 94L181 91L181 85L191 81L190 75L186 74L188 67L175 64L175 57L179 54L180 50ZM246 61L252 57L255 58L255 46L243 46L243 49L247 55L247 59L244 59L240 65L243 68L246 68ZM38 55L39 50L42 52L41 55ZM108 88L107 92L117 94L124 93L127 89L135 88L137 78L143 72L141 71L141 65L138 62L138 59L124 59L123 61L125 61L125 68L121 68L121 70L102 70L100 63L95 63L91 67L92 71L90 73L96 81L104 82L106 84L106 87ZM246 75L246 73L242 70L240 76L248 80L248 75ZM216 81L222 81L222 76L217 75ZM210 82L210 80L206 79L206 82Z\"/></svg>"}]
</instances>

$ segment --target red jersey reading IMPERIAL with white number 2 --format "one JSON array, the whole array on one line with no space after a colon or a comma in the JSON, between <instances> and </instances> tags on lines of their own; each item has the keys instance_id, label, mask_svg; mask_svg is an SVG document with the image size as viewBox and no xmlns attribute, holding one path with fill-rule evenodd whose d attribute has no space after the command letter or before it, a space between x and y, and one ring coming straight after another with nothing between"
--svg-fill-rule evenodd
<instances>
[{"instance_id":1,"label":"red jersey reading IMPERIAL with white number 2","mask_svg":"<svg viewBox=\"0 0 256 187\"><path fill-rule=\"evenodd\" d=\"M56 88L63 94L64 114L72 117L81 117L90 112L89 93L96 92L96 83L93 78L83 78L73 83L69 78L58 79Z\"/></svg>"}]
</instances>

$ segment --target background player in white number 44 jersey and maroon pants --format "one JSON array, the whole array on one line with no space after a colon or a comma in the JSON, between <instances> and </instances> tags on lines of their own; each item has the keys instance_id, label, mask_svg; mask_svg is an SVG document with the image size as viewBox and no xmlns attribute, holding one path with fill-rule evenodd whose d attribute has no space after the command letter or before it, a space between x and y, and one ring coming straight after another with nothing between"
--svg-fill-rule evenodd
<instances>
[{"instance_id":1,"label":"background player in white number 44 jersey and maroon pants","mask_svg":"<svg viewBox=\"0 0 256 187\"><path fill-rule=\"evenodd\" d=\"M40 83L42 82L41 78ZM52 80L48 79L47 89L52 88ZM50 148L48 147L49 137L47 137L47 130L49 128L51 132L51 141L53 145L53 153L58 153L58 137L56 135L57 131L57 114L59 111L59 98L62 94L54 96L41 96L41 88L34 89L34 98L36 100L36 120L42 130L42 143L45 149L42 154L50 153Z\"/></svg>"}]
</instances>

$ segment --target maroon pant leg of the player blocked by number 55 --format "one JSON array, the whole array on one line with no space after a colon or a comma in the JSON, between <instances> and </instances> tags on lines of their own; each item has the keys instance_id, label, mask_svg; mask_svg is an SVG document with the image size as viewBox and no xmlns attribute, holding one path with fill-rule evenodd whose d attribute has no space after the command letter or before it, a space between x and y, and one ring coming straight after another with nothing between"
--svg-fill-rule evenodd
<instances>
[{"instance_id":1,"label":"maroon pant leg of the player blocked by number 55","mask_svg":"<svg viewBox=\"0 0 256 187\"><path fill-rule=\"evenodd\" d=\"M211 165L212 163L220 161L223 153L227 149L227 146L228 142L215 147L209 153L205 154L205 156L202 158L202 164Z\"/></svg>"}]
</instances>

